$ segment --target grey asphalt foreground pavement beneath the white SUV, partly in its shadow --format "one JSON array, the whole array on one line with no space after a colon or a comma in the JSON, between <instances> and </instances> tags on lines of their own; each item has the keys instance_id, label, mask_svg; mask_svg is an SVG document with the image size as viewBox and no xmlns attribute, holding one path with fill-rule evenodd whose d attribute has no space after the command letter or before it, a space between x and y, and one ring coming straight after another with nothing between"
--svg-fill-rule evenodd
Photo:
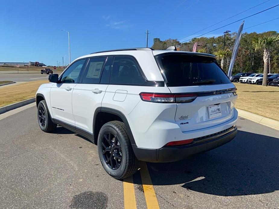
<instances>
[{"instance_id":1,"label":"grey asphalt foreground pavement beneath the white SUV, partly in its shadow","mask_svg":"<svg viewBox=\"0 0 279 209\"><path fill-rule=\"evenodd\" d=\"M154 188L160 208L279 208L279 131L244 118L237 126L236 138L217 149L175 163L147 163L148 170L143 164L133 176L137 208L152 199L146 186ZM44 133L35 106L0 117L0 127L1 208L127 204L126 182L106 174L96 145L62 127Z\"/></svg>"}]
</instances>

